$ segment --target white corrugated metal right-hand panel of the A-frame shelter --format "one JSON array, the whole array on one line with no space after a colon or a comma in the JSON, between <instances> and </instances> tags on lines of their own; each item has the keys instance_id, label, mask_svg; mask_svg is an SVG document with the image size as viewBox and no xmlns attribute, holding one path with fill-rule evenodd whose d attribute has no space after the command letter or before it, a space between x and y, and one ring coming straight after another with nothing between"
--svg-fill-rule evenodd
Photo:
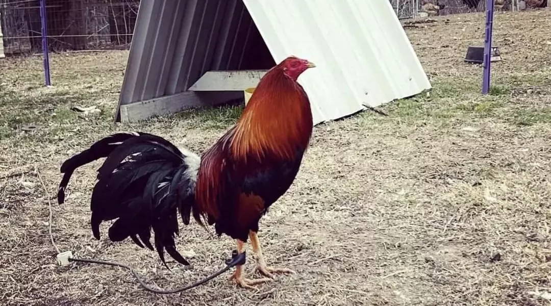
<instances>
[{"instance_id":1,"label":"white corrugated metal right-hand panel of the A-frame shelter","mask_svg":"<svg viewBox=\"0 0 551 306\"><path fill-rule=\"evenodd\" d=\"M276 62L317 65L299 78L315 123L430 88L387 0L243 1Z\"/></svg>"}]
</instances>

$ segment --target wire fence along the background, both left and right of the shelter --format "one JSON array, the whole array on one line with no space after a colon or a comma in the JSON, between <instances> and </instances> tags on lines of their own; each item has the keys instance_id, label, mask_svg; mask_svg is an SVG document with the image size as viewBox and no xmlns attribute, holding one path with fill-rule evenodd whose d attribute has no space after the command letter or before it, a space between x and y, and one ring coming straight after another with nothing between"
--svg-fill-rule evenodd
<instances>
[{"instance_id":1,"label":"wire fence along the background, both left and right of the shelter","mask_svg":"<svg viewBox=\"0 0 551 306\"><path fill-rule=\"evenodd\" d=\"M486 3L486 0L389 1L400 19L483 12ZM139 2L140 0L46 0L48 50L59 52L128 48L132 41ZM547 7L548 0L495 0L495 3L498 10L522 10ZM3 32L5 54L41 53L41 29L39 0L0 0L0 33Z\"/></svg>"}]
</instances>

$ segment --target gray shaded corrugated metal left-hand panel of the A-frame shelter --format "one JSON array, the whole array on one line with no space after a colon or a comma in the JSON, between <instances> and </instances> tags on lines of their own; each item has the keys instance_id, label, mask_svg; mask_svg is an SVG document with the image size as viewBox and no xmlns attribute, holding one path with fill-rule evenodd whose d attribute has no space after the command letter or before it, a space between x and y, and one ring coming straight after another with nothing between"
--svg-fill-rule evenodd
<instances>
[{"instance_id":1,"label":"gray shaded corrugated metal left-hand panel of the A-frame shelter","mask_svg":"<svg viewBox=\"0 0 551 306\"><path fill-rule=\"evenodd\" d=\"M241 0L142 1L119 106L179 94L209 70L273 64Z\"/></svg>"}]
</instances>

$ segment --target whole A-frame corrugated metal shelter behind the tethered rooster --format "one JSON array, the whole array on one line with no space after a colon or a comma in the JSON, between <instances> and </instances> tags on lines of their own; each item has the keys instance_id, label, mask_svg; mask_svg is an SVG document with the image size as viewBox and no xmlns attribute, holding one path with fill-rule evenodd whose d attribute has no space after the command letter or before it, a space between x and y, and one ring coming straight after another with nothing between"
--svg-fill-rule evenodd
<instances>
[{"instance_id":1,"label":"whole A-frame corrugated metal shelter behind the tethered rooster","mask_svg":"<svg viewBox=\"0 0 551 306\"><path fill-rule=\"evenodd\" d=\"M430 88L387 0L142 1L116 121L243 99L291 54L316 124Z\"/></svg>"}]
</instances>

